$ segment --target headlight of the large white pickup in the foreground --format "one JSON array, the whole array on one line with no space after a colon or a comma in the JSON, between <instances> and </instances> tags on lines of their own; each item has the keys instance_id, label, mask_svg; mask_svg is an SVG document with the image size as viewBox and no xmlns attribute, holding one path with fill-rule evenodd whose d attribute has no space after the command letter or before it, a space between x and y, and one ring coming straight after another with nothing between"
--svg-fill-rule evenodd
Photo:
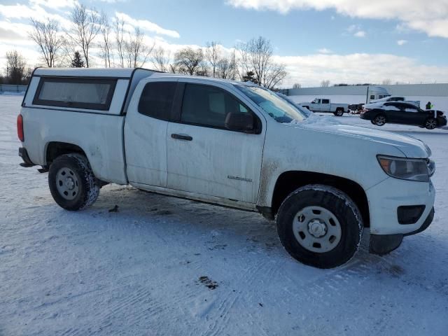
<instances>
[{"instance_id":1,"label":"headlight of the large white pickup in the foreground","mask_svg":"<svg viewBox=\"0 0 448 336\"><path fill-rule=\"evenodd\" d=\"M426 159L393 158L383 155L378 155L377 158L384 172L395 179L428 182L435 170L434 162Z\"/></svg>"}]
</instances>

